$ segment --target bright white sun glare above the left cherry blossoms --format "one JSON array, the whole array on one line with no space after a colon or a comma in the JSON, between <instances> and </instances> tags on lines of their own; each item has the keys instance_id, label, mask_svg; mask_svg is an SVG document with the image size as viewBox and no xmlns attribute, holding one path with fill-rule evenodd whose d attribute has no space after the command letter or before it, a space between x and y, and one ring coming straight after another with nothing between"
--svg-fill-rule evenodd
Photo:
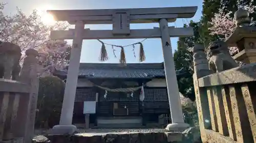
<instances>
[{"instance_id":1,"label":"bright white sun glare above the left cherry blossoms","mask_svg":"<svg viewBox=\"0 0 256 143\"><path fill-rule=\"evenodd\" d=\"M47 25L53 25L54 23L56 23L53 16L46 12L47 10L51 9L51 6L44 6L36 9L37 14L41 17L41 21Z\"/></svg>"}]
</instances>

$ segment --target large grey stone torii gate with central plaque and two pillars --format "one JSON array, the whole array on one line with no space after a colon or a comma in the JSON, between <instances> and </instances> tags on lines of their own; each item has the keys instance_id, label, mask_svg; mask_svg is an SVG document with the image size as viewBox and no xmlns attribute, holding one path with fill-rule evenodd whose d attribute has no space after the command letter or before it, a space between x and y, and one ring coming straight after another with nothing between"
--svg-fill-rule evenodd
<instances>
[{"instance_id":1,"label":"large grey stone torii gate with central plaque and two pillars","mask_svg":"<svg viewBox=\"0 0 256 143\"><path fill-rule=\"evenodd\" d=\"M51 39L73 39L60 125L53 129L72 127L82 40L135 38L161 38L170 114L172 116L172 124L169 124L166 129L170 131L186 129L188 125L183 120L170 37L193 36L193 28L168 27L168 22L175 22L177 18L191 18L196 11L197 7L47 11L57 21L68 21L70 24L75 24L75 29L51 32ZM130 29L131 23L156 22L159 22L159 27L142 30ZM85 29L85 24L113 24L113 30Z\"/></svg>"}]
</instances>

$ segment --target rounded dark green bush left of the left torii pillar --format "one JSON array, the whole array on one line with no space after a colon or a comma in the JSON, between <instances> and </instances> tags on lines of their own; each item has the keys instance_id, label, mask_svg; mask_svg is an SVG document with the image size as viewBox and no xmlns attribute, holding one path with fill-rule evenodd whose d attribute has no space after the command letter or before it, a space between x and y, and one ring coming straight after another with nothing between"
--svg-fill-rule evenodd
<instances>
[{"instance_id":1,"label":"rounded dark green bush left of the left torii pillar","mask_svg":"<svg viewBox=\"0 0 256 143\"><path fill-rule=\"evenodd\" d=\"M58 77L39 78L36 127L51 128L59 124L65 83Z\"/></svg>"}]
</instances>

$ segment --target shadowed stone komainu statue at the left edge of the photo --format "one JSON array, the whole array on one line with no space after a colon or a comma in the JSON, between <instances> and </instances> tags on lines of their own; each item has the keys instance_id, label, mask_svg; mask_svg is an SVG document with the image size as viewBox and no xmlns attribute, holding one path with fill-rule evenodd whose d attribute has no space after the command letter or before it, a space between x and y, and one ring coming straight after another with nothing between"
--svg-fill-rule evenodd
<instances>
[{"instance_id":1,"label":"shadowed stone komainu statue at the left edge of the photo","mask_svg":"<svg viewBox=\"0 0 256 143\"><path fill-rule=\"evenodd\" d=\"M18 80L21 56L21 49L18 45L0 42L0 78Z\"/></svg>"}]
</instances>

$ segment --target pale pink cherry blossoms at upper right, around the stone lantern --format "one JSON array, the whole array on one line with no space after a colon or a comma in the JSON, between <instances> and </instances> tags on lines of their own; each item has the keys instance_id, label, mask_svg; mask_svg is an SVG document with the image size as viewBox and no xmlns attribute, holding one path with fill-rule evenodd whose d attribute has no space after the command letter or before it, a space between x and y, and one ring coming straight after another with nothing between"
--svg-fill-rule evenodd
<instances>
[{"instance_id":1,"label":"pale pink cherry blossoms at upper right, around the stone lantern","mask_svg":"<svg viewBox=\"0 0 256 143\"><path fill-rule=\"evenodd\" d=\"M251 0L249 4L242 3L242 1L237 1L237 7L247 10L249 14L254 13L256 8L256 6L253 5L253 0ZM219 39L221 40L225 40L227 37L229 37L236 28L236 22L233 18L233 13L226 13L224 8L225 7L222 7L219 10L219 13L216 13L211 21L209 21L211 26L208 28L210 35L218 35ZM229 52L231 55L234 55L238 53L238 48L229 47Z\"/></svg>"}]
</instances>

